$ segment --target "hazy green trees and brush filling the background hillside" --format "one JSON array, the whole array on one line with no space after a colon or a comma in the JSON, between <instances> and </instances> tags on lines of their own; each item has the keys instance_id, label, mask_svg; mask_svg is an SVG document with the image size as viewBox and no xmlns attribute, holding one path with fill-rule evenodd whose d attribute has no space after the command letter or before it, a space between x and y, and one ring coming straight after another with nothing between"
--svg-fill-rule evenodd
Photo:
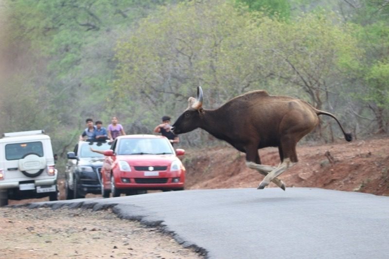
<instances>
[{"instance_id":1,"label":"hazy green trees and brush filling the background hillside","mask_svg":"<svg viewBox=\"0 0 389 259\"><path fill-rule=\"evenodd\" d=\"M46 129L62 157L86 117L151 133L197 85L210 109L265 89L347 116L354 134L388 132L385 0L3 2L0 131Z\"/></svg>"}]
</instances>

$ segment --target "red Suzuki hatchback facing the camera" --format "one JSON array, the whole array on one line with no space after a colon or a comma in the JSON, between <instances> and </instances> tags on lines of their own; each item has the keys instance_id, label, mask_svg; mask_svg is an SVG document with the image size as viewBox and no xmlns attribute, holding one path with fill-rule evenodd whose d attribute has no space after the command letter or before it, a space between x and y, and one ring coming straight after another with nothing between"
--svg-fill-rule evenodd
<instances>
[{"instance_id":1,"label":"red Suzuki hatchback facing the camera","mask_svg":"<svg viewBox=\"0 0 389 259\"><path fill-rule=\"evenodd\" d=\"M147 190L183 190L185 167L169 140L157 135L125 135L104 151L101 170L102 195L118 197L146 193Z\"/></svg>"}]
</instances>

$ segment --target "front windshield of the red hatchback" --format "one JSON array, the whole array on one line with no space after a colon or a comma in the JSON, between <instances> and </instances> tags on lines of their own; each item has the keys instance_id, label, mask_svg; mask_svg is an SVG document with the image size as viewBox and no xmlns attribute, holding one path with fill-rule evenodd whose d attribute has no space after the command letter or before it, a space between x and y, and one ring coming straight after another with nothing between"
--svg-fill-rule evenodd
<instances>
[{"instance_id":1,"label":"front windshield of the red hatchback","mask_svg":"<svg viewBox=\"0 0 389 259\"><path fill-rule=\"evenodd\" d=\"M118 155L173 154L174 150L165 138L127 138L119 142Z\"/></svg>"}]
</instances>

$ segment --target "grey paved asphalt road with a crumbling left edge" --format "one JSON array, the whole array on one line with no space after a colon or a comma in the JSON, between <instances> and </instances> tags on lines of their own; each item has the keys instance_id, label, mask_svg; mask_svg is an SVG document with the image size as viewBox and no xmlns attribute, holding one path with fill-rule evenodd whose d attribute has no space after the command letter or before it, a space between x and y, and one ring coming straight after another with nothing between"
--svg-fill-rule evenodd
<instances>
[{"instance_id":1,"label":"grey paved asphalt road with a crumbling left edge","mask_svg":"<svg viewBox=\"0 0 389 259\"><path fill-rule=\"evenodd\" d=\"M33 203L114 206L212 259L387 259L389 197L319 188L185 190Z\"/></svg>"}]
</instances>

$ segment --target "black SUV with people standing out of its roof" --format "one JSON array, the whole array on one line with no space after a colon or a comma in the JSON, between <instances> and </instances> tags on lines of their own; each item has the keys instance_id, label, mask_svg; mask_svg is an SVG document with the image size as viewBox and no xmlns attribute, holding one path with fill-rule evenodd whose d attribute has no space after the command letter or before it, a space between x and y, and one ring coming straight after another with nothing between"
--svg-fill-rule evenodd
<instances>
[{"instance_id":1,"label":"black SUV with people standing out of its roof","mask_svg":"<svg viewBox=\"0 0 389 259\"><path fill-rule=\"evenodd\" d=\"M65 182L67 200L85 198L87 193L101 194L104 155L90 148L107 150L110 147L108 142L80 141L73 152L68 152Z\"/></svg>"}]
</instances>

